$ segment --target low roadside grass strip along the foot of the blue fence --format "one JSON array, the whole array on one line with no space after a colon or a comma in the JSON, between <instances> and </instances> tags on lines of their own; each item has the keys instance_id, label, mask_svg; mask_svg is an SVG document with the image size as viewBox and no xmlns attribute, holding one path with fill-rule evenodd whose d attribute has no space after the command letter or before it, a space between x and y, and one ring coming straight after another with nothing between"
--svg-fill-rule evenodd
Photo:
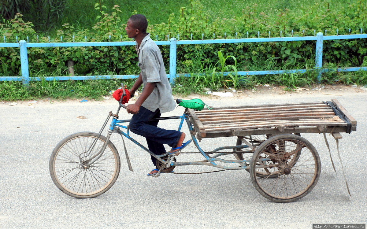
<instances>
[{"instance_id":1,"label":"low roadside grass strip along the foot of the blue fence","mask_svg":"<svg viewBox=\"0 0 367 229\"><path fill-rule=\"evenodd\" d=\"M220 76L219 76L220 77ZM239 88L252 88L257 84L275 84L286 86L286 90L296 87L312 87L315 83L316 73L309 70L306 73L278 74L278 75L256 75L239 80ZM178 77L175 86L172 87L173 94L189 95L191 93L204 95L206 90L218 90L224 88L222 78L217 81L210 80L210 74L192 74L191 77ZM310 80L313 79L313 80ZM123 82L130 88L135 79L101 79L101 80L66 80L66 81L31 81L29 87L24 87L22 81L0 81L0 100L17 101L32 99L95 99L101 100L103 96L110 96L111 91L120 87ZM323 84L367 84L367 72L337 73L327 72L322 75ZM227 84L227 87L229 85Z\"/></svg>"}]
</instances>

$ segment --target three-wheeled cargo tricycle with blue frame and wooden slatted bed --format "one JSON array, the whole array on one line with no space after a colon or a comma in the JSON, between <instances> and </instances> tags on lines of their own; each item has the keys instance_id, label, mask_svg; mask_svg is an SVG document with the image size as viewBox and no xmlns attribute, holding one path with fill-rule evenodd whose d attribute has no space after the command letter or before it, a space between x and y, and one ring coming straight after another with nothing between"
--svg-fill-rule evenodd
<instances>
[{"instance_id":1,"label":"three-wheeled cargo tricycle with blue frame and wooden slatted bed","mask_svg":"<svg viewBox=\"0 0 367 229\"><path fill-rule=\"evenodd\" d=\"M157 159L159 172L153 177L162 173L169 175L176 166L245 170L262 196L275 202L292 202L311 192L321 171L317 150L301 134L331 133L338 139L341 138L339 133L356 130L356 120L336 99L203 110L186 108L181 116L158 120L179 120L179 131L186 123L191 144L198 152L170 154L168 151L155 155L130 135L125 124L130 120L119 119L120 108L126 108L121 100L116 114L109 112L98 133L78 132L55 147L49 168L52 181L62 192L77 198L90 198L109 190L120 173L120 156L110 136L120 134L122 139L131 140ZM103 136L103 129L111 117L107 136ZM209 152L200 148L201 140L217 137L237 137L237 141ZM132 171L126 147L124 150ZM203 160L179 161L179 153L199 153Z\"/></svg>"}]
</instances>

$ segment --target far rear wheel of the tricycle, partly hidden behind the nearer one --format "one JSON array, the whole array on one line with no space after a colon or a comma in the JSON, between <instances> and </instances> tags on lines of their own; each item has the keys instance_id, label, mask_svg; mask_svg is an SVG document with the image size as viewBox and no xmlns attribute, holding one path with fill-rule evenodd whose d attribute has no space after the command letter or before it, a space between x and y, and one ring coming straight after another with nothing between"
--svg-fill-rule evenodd
<instances>
[{"instance_id":1,"label":"far rear wheel of the tricycle, partly hidden behind the nearer one","mask_svg":"<svg viewBox=\"0 0 367 229\"><path fill-rule=\"evenodd\" d=\"M298 136L301 136L301 134L295 134ZM269 139L270 137L272 137L272 135L270 134L262 134L262 135L248 135L248 136L243 136L242 138L246 139L246 141L248 141L249 143L251 143L253 146L257 147L259 146L262 142L266 141L267 139ZM241 138L237 138L237 142L236 145L244 145L244 143L241 141ZM235 151L241 151L242 149L236 149ZM237 160L250 160L252 158L252 154L254 153L254 150L249 149L246 153L233 153L233 155L235 155ZM301 153L301 150L297 152L297 155L295 156L294 160L297 161L298 157L299 157L299 153ZM250 163L245 163L246 166L249 166ZM250 169L246 169L247 172L250 172ZM279 176L279 173L277 173L276 171L273 174L269 174L268 171L264 170L264 171L257 171L256 174L258 175L258 177L261 178L274 178Z\"/></svg>"}]
</instances>

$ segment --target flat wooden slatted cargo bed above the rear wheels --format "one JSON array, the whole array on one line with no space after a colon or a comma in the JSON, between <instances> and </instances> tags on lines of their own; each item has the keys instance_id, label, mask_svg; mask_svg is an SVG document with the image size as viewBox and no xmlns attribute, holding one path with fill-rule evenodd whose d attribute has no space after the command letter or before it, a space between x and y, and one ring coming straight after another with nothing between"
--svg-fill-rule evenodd
<instances>
[{"instance_id":1,"label":"flat wooden slatted cargo bed above the rear wheels","mask_svg":"<svg viewBox=\"0 0 367 229\"><path fill-rule=\"evenodd\" d=\"M258 134L350 132L357 121L336 100L188 109L198 139ZM334 105L334 108L332 106Z\"/></svg>"}]
</instances>

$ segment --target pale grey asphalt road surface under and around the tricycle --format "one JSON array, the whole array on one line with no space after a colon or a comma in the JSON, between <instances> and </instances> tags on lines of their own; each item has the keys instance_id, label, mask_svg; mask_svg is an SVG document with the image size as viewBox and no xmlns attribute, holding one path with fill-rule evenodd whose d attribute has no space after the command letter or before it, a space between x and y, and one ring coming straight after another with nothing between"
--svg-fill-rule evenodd
<instances>
[{"instance_id":1,"label":"pale grey asphalt road surface under and around the tricycle","mask_svg":"<svg viewBox=\"0 0 367 229\"><path fill-rule=\"evenodd\" d=\"M359 91L359 92L358 92ZM124 160L118 135L111 141L121 155L121 171L115 185L103 195L76 199L52 182L48 161L55 145L74 132L98 132L108 111L117 103L106 101L0 102L0 228L312 228L312 223L366 223L367 91L334 90L279 95L247 93L235 98L203 98L211 106L235 106L308 101L339 102L357 120L357 131L343 133L341 157L352 197L346 190L335 141L329 136L335 174L321 134L304 134L321 157L321 176L316 187L293 203L273 203L253 187L247 171L209 174L163 174L147 177L150 157L126 141L132 167ZM179 115L177 108L167 116ZM77 119L85 116L87 119ZM128 119L129 114L123 113ZM176 129L177 120L161 127ZM19 128L18 128L19 127ZM139 141L142 138L137 137ZM235 145L236 138L203 139L203 149ZM181 157L182 156L182 157ZM190 160L181 155L178 161ZM213 167L176 167L176 172L204 172Z\"/></svg>"}]
</instances>

